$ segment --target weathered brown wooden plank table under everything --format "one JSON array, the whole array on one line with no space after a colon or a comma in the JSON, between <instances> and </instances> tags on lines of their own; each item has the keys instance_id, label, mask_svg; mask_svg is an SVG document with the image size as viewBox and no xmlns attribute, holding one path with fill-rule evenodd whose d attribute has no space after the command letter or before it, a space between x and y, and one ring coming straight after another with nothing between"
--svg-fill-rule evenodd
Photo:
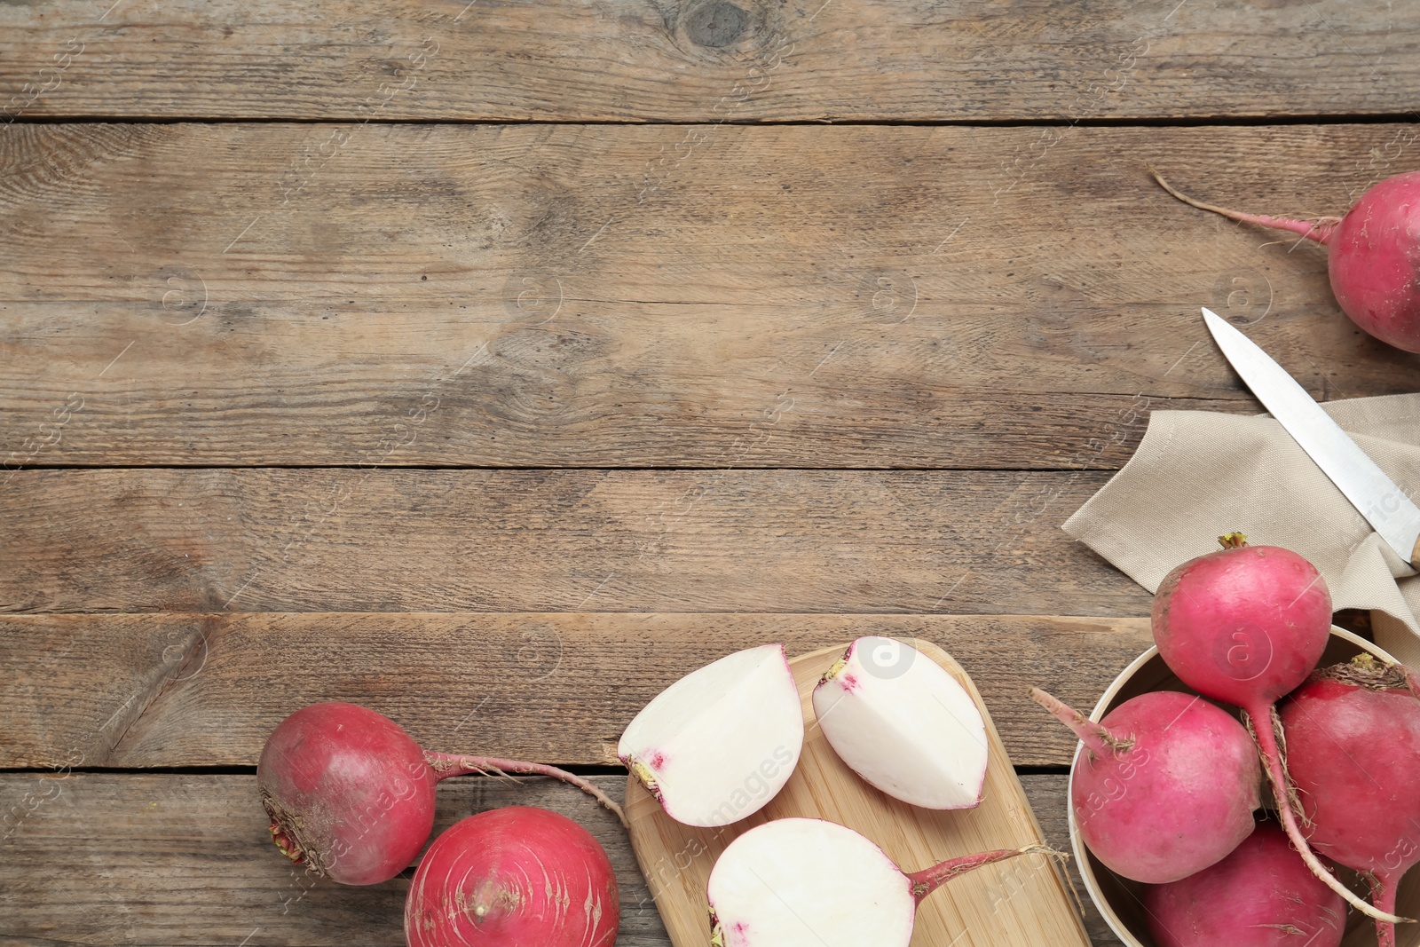
<instances>
[{"instance_id":1,"label":"weathered brown wooden plank table under everything","mask_svg":"<svg viewBox=\"0 0 1420 947\"><path fill-rule=\"evenodd\" d=\"M1149 596L1059 524L1150 410L1258 410L1197 307L1420 388L1323 251L1146 172L1305 216L1420 166L1411 3L6 0L0 94L3 944L399 944L408 879L266 838L281 717L619 791L767 640L940 643L1064 845L1025 687L1089 706ZM511 802L667 944L578 794L440 825Z\"/></svg>"}]
</instances>

